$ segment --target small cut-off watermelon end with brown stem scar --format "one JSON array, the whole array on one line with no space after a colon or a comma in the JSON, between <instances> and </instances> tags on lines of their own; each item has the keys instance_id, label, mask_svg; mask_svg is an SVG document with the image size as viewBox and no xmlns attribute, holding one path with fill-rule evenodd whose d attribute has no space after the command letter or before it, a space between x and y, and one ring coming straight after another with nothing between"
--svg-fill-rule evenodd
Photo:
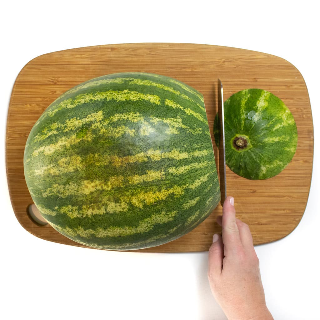
<instances>
[{"instance_id":1,"label":"small cut-off watermelon end with brown stem scar","mask_svg":"<svg viewBox=\"0 0 320 320\"><path fill-rule=\"evenodd\" d=\"M226 164L251 180L276 176L297 148L297 126L289 108L271 92L246 89L224 103ZM214 137L219 145L218 114Z\"/></svg>"}]
</instances>

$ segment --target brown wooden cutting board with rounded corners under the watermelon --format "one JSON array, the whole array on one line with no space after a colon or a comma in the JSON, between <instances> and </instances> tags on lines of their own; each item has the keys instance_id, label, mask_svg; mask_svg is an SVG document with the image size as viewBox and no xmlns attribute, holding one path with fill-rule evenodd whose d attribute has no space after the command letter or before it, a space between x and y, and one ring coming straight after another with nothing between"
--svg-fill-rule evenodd
<instances>
[{"instance_id":1,"label":"brown wooden cutting board with rounded corners under the watermelon","mask_svg":"<svg viewBox=\"0 0 320 320\"><path fill-rule=\"evenodd\" d=\"M32 204L23 174L28 134L41 113L63 92L105 74L140 71L171 76L204 95L213 138L217 113L217 78L224 100L248 88L265 89L284 101L298 129L298 146L291 163L268 180L247 180L227 168L228 195L235 197L237 217L251 229L254 244L275 241L298 225L308 201L312 162L313 124L306 84L288 61L261 52L204 44L140 43L101 45L52 52L28 62L14 83L7 119L6 168L12 207L20 224L33 235L62 244L82 246L41 226L27 214ZM214 141L214 140L213 140ZM217 148L213 143L216 160ZM219 204L209 218L187 235L142 252L207 251ZM21 239L22 240L22 239Z\"/></svg>"}]
</instances>

